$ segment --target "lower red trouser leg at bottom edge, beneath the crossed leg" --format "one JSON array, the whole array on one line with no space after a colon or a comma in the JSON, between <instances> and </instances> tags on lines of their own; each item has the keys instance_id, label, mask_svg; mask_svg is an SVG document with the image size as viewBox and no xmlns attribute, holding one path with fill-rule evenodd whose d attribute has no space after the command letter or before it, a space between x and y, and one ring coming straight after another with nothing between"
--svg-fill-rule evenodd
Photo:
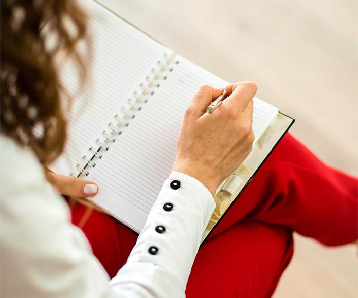
<instances>
[{"instance_id":1,"label":"lower red trouser leg at bottom edge, beneath the crossed leg","mask_svg":"<svg viewBox=\"0 0 358 298\"><path fill-rule=\"evenodd\" d=\"M238 222L200 249L186 297L271 297L292 253L290 229Z\"/></svg>"}]
</instances>

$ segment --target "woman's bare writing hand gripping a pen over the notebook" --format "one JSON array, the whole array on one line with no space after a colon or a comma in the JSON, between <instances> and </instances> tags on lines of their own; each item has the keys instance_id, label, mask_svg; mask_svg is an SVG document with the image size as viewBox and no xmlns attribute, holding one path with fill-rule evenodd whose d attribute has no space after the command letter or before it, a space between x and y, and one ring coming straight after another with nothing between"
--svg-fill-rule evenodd
<instances>
[{"instance_id":1,"label":"woman's bare writing hand gripping a pen over the notebook","mask_svg":"<svg viewBox=\"0 0 358 298\"><path fill-rule=\"evenodd\" d=\"M206 107L224 89L202 85L187 108L177 142L173 171L190 175L211 192L230 176L252 150L252 82L230 84L228 97L212 114Z\"/></svg>"}]
</instances>

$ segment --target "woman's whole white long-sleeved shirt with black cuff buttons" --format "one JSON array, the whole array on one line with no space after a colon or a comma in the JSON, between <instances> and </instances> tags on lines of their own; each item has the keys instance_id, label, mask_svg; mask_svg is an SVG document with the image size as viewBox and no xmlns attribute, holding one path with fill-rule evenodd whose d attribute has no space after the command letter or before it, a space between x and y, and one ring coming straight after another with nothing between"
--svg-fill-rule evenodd
<instances>
[{"instance_id":1,"label":"woman's whole white long-sleeved shirt with black cuff buttons","mask_svg":"<svg viewBox=\"0 0 358 298\"><path fill-rule=\"evenodd\" d=\"M4 137L0 145L2 296L185 295L214 209L212 195L199 181L181 173L170 175L128 262L110 281L83 232L70 223L66 203L53 193L34 155Z\"/></svg>"}]
</instances>

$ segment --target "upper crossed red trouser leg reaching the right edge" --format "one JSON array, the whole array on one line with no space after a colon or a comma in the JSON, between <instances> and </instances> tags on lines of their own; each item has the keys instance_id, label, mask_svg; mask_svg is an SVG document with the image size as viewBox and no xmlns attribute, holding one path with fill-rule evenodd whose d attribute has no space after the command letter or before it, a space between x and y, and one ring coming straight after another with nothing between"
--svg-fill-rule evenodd
<instances>
[{"instance_id":1,"label":"upper crossed red trouser leg reaching the right edge","mask_svg":"<svg viewBox=\"0 0 358 298\"><path fill-rule=\"evenodd\" d=\"M286 135L213 232L239 220L283 225L326 245L358 237L358 181Z\"/></svg>"}]
</instances>

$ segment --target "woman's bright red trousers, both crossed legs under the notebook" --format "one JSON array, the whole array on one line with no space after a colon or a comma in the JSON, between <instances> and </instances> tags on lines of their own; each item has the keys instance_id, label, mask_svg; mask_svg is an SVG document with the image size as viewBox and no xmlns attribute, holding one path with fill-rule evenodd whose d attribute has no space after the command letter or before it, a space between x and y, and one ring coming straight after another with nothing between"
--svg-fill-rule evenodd
<instances>
[{"instance_id":1,"label":"woman's bright red trousers, both crossed legs under the notebook","mask_svg":"<svg viewBox=\"0 0 358 298\"><path fill-rule=\"evenodd\" d=\"M286 135L195 258L186 295L271 297L293 254L292 231L325 245L358 238L358 181ZM73 208L79 224L86 208ZM82 227L113 277L137 236L93 211Z\"/></svg>"}]
</instances>

